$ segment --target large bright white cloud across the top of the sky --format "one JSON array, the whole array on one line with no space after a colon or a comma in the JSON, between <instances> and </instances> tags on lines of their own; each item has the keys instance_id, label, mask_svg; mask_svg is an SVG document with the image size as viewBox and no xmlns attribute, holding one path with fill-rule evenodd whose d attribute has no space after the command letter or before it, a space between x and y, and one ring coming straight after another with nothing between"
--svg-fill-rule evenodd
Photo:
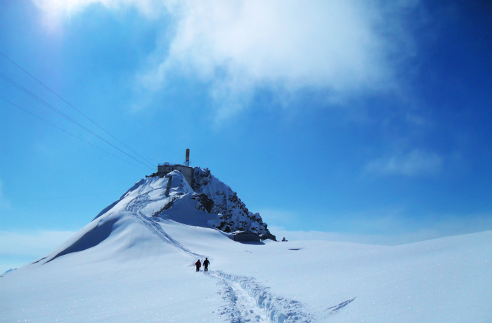
<instances>
[{"instance_id":1,"label":"large bright white cloud across the top of the sky","mask_svg":"<svg viewBox=\"0 0 492 323\"><path fill-rule=\"evenodd\" d=\"M176 74L212 84L221 117L247 106L259 88L279 97L322 89L337 101L389 90L414 51L406 22L417 1L36 1L49 15L100 4L170 19L174 34L163 37L139 79L155 90Z\"/></svg>"}]
</instances>

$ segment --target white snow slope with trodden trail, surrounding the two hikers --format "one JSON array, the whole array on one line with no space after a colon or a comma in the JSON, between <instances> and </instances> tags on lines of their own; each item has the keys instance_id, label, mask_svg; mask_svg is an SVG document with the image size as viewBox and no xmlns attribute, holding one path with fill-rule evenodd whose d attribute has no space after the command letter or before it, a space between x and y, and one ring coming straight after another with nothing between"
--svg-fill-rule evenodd
<instances>
[{"instance_id":1,"label":"white snow slope with trodden trail, surrounding the two hikers","mask_svg":"<svg viewBox=\"0 0 492 323\"><path fill-rule=\"evenodd\" d=\"M0 277L0 322L492 322L492 232L240 244L181 177L142 180Z\"/></svg>"}]
</instances>

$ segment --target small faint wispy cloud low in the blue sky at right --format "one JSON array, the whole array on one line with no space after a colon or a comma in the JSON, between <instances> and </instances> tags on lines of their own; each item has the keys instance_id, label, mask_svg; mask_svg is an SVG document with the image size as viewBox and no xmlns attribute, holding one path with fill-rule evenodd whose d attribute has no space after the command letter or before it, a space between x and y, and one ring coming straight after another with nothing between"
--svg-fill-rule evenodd
<instances>
[{"instance_id":1,"label":"small faint wispy cloud low in the blue sky at right","mask_svg":"<svg viewBox=\"0 0 492 323\"><path fill-rule=\"evenodd\" d=\"M370 162L366 171L380 175L415 176L437 173L441 170L444 158L433 152L411 150L394 156Z\"/></svg>"}]
</instances>

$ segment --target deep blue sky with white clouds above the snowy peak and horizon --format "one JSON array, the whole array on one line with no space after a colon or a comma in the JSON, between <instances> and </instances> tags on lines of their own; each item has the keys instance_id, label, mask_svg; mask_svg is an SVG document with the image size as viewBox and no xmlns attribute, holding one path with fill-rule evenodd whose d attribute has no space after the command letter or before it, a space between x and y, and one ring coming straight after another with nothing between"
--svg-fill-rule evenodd
<instances>
[{"instance_id":1,"label":"deep blue sky with white clouds above the snowy peak and horizon","mask_svg":"<svg viewBox=\"0 0 492 323\"><path fill-rule=\"evenodd\" d=\"M277 236L492 230L490 1L6 0L0 21L1 272L186 148Z\"/></svg>"}]
</instances>

